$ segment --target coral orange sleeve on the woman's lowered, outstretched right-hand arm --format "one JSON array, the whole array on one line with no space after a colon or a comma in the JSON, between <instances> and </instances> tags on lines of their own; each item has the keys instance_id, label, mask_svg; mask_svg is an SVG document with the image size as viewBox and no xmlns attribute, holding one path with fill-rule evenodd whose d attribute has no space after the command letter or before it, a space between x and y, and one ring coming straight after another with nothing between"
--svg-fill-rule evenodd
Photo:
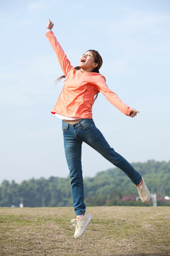
<instances>
[{"instance_id":1,"label":"coral orange sleeve on the woman's lowered, outstretched right-hand arm","mask_svg":"<svg viewBox=\"0 0 170 256\"><path fill-rule=\"evenodd\" d=\"M106 85L106 79L103 76L101 76L101 78L98 79L97 87L98 87L98 90L101 93L103 93L103 95L105 95L106 99L109 102L111 102L112 105L114 105L118 110L123 112L123 114L126 114L128 116L130 115L130 112L132 111L132 109L127 105L125 105L125 103L123 103L120 100L118 95L116 95L114 92L112 92L108 88L108 85Z\"/></svg>"}]
</instances>

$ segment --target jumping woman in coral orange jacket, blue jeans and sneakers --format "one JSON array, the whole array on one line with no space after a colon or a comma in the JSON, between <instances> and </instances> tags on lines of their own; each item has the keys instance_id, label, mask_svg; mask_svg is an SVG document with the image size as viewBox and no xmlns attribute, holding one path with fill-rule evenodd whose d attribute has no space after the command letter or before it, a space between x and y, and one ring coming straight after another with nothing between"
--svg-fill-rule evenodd
<instances>
[{"instance_id":1,"label":"jumping woman in coral orange jacket, blue jeans and sneakers","mask_svg":"<svg viewBox=\"0 0 170 256\"><path fill-rule=\"evenodd\" d=\"M150 195L142 176L133 169L123 156L120 156L109 146L103 134L96 128L91 112L94 97L98 92L102 92L109 102L130 117L135 117L138 113L137 110L125 105L108 88L106 79L99 73L103 61L96 50L86 51L81 56L78 67L74 68L70 64L60 43L52 33L53 26L54 24L49 20L46 36L57 54L65 81L60 97L52 109L52 114L62 119L64 150L71 178L74 211L77 215L77 218L72 220L73 225L76 227L74 238L79 238L91 220L91 215L86 213L84 204L84 181L81 169L82 142L89 144L108 161L111 161L112 164L124 171L131 181L135 183L140 198L144 203L149 201Z\"/></svg>"}]
</instances>

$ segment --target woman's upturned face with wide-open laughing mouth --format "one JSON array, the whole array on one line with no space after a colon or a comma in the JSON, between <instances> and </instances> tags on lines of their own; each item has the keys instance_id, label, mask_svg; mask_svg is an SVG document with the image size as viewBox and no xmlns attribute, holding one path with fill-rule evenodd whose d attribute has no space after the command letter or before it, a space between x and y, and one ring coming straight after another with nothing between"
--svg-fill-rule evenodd
<instances>
[{"instance_id":1,"label":"woman's upturned face with wide-open laughing mouth","mask_svg":"<svg viewBox=\"0 0 170 256\"><path fill-rule=\"evenodd\" d=\"M91 72L94 70L94 68L97 67L97 63L94 61L94 55L91 53L91 51L87 51L84 53L79 61L79 67L84 71Z\"/></svg>"}]
</instances>

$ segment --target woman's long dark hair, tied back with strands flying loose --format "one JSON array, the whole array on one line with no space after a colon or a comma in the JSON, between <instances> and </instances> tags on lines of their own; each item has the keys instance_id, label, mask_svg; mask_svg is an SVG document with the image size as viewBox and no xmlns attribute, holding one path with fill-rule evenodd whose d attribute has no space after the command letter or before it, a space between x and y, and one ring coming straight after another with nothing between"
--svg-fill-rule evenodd
<instances>
[{"instance_id":1,"label":"woman's long dark hair, tied back with strands flying loose","mask_svg":"<svg viewBox=\"0 0 170 256\"><path fill-rule=\"evenodd\" d=\"M103 63L103 60L102 60L102 58L101 58L101 55L98 53L97 50L87 50L87 51L90 51L90 52L93 54L93 56L94 56L94 62L95 62L95 63L98 63L97 67L94 68L94 70L91 71L91 72L93 72L93 73L99 73L99 69L101 68L101 65L102 65L102 63ZM81 68L80 68L79 66L77 66L77 67L75 67L74 69L75 69L75 70L80 70ZM60 76L60 78L57 78L57 80L55 80L55 83L60 82L60 80L62 80L62 78L65 78L65 75L62 75L62 76ZM98 93L95 95L94 100L96 100L97 97L98 97Z\"/></svg>"}]
</instances>

